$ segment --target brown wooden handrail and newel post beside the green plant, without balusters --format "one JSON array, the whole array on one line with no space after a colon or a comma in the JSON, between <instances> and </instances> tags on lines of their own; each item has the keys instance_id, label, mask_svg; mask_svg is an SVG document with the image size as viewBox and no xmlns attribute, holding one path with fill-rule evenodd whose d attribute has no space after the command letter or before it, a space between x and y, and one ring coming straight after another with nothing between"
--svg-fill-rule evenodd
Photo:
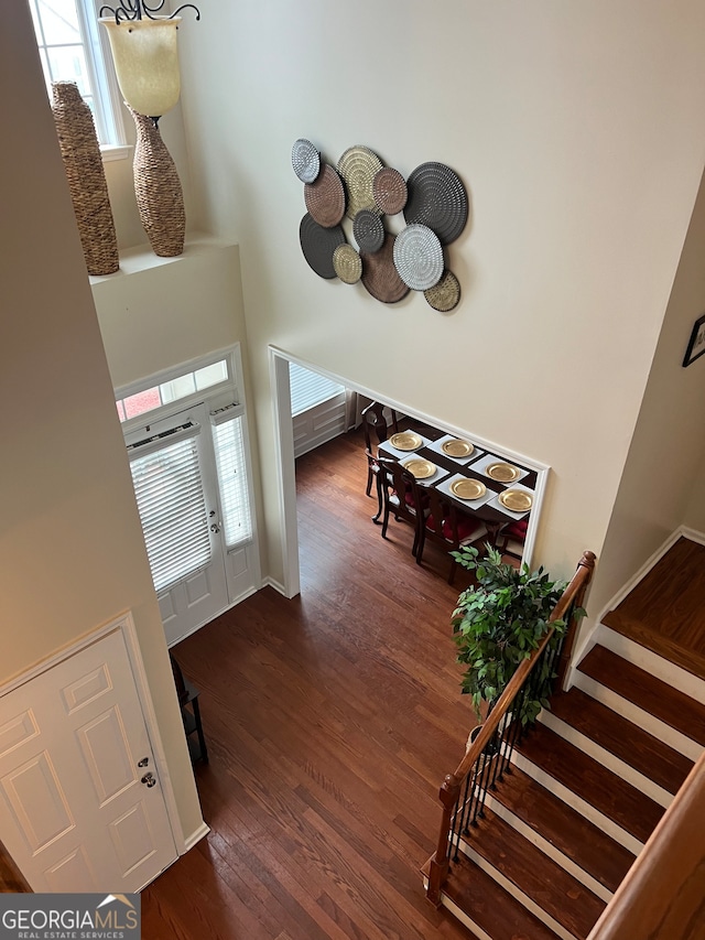
<instances>
[{"instance_id":1,"label":"brown wooden handrail and newel post beside the green plant, without balusters","mask_svg":"<svg viewBox=\"0 0 705 940\"><path fill-rule=\"evenodd\" d=\"M565 591L561 595L557 604L553 608L551 616L549 617L549 623L552 624L554 620L560 620L572 607L572 605L579 606L585 596L585 592L587 590L587 585L590 582L593 576L593 571L595 569L595 554L594 552L583 552L583 557L581 558L575 574L571 583L566 586ZM545 637L541 641L540 646L533 650L531 656L528 659L524 659L517 671L509 680L507 688L500 695L499 700L492 707L492 711L487 716L485 723L481 725L477 737L473 741L470 746L465 753L463 760L456 767L453 774L448 774L441 786L441 790L438 792L438 799L443 806L443 815L441 820L441 829L438 831L438 842L436 845L436 851L431 858L430 871L429 871L429 888L426 892L426 896L432 904L435 904L436 907L441 905L441 890L445 879L448 875L449 868L449 854L448 854L448 835L451 833L453 814L455 811L455 807L457 804L460 789L468 774L471 771L475 764L478 761L485 748L490 743L490 741L497 734L498 727L505 715L509 712L512 702L521 691L522 685L527 681L528 676L531 673L535 663L539 661L539 658L543 655L547 645L551 641L551 637L555 633L555 629L551 627L546 631ZM571 624L568 624L568 633L566 635L565 642L570 639L570 648L573 648L574 642L574 634L575 634L575 618L572 618ZM565 645L564 642L564 645ZM558 665L558 676L562 681L563 674L565 671L565 661L563 657L561 658Z\"/></svg>"}]
</instances>

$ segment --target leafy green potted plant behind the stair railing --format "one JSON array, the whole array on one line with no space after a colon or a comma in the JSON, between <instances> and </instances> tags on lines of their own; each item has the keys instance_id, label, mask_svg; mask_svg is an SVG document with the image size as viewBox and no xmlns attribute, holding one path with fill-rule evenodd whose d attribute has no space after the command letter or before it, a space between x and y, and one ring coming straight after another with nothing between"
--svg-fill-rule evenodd
<instances>
[{"instance_id":1,"label":"leafy green potted plant behind the stair railing","mask_svg":"<svg viewBox=\"0 0 705 940\"><path fill-rule=\"evenodd\" d=\"M516 569L502 562L499 551L487 547L487 555L471 545L453 552L463 568L475 572L475 584L458 596L453 612L453 639L457 661L467 668L463 676L463 692L473 696L473 705L481 718L480 705L501 695L522 660L536 649L549 630L549 617L565 590L565 583L551 581L540 568L530 571L527 564ZM578 616L583 612L577 612ZM551 644L558 644L566 622L553 620L555 629ZM542 707L549 706L551 676L547 658L535 692L527 695L521 710L523 724L533 722Z\"/></svg>"}]
</instances>

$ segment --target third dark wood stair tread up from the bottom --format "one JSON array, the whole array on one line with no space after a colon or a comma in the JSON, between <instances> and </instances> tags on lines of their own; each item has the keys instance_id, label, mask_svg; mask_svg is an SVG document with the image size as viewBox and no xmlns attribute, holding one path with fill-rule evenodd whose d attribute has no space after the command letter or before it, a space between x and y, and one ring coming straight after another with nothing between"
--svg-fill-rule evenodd
<instances>
[{"instance_id":1,"label":"third dark wood stair tread up from the bottom","mask_svg":"<svg viewBox=\"0 0 705 940\"><path fill-rule=\"evenodd\" d=\"M628 849L519 767L503 776L491 796L610 892L634 862Z\"/></svg>"}]
</instances>

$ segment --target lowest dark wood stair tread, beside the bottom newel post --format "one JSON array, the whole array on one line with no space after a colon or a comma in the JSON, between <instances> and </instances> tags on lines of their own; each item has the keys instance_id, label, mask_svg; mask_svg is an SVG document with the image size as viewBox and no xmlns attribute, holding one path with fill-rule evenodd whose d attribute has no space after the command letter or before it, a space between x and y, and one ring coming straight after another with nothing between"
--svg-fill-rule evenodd
<instances>
[{"instance_id":1,"label":"lowest dark wood stair tread, beside the bottom newel post","mask_svg":"<svg viewBox=\"0 0 705 940\"><path fill-rule=\"evenodd\" d=\"M443 894L492 940L556 940L553 930L466 855L452 864Z\"/></svg>"}]
</instances>

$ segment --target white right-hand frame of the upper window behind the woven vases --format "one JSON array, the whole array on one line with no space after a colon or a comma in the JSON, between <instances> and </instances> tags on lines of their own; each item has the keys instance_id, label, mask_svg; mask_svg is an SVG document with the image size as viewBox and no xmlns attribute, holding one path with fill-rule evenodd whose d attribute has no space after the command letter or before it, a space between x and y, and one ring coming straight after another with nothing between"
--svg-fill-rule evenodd
<instances>
[{"instance_id":1,"label":"white right-hand frame of the upper window behind the woven vases","mask_svg":"<svg viewBox=\"0 0 705 940\"><path fill-rule=\"evenodd\" d=\"M100 152L104 160L118 160L127 156L130 148L124 130L122 94L112 64L107 30L98 22L100 7L105 4L101 0L75 0L75 4L96 102L95 123Z\"/></svg>"}]
</instances>

